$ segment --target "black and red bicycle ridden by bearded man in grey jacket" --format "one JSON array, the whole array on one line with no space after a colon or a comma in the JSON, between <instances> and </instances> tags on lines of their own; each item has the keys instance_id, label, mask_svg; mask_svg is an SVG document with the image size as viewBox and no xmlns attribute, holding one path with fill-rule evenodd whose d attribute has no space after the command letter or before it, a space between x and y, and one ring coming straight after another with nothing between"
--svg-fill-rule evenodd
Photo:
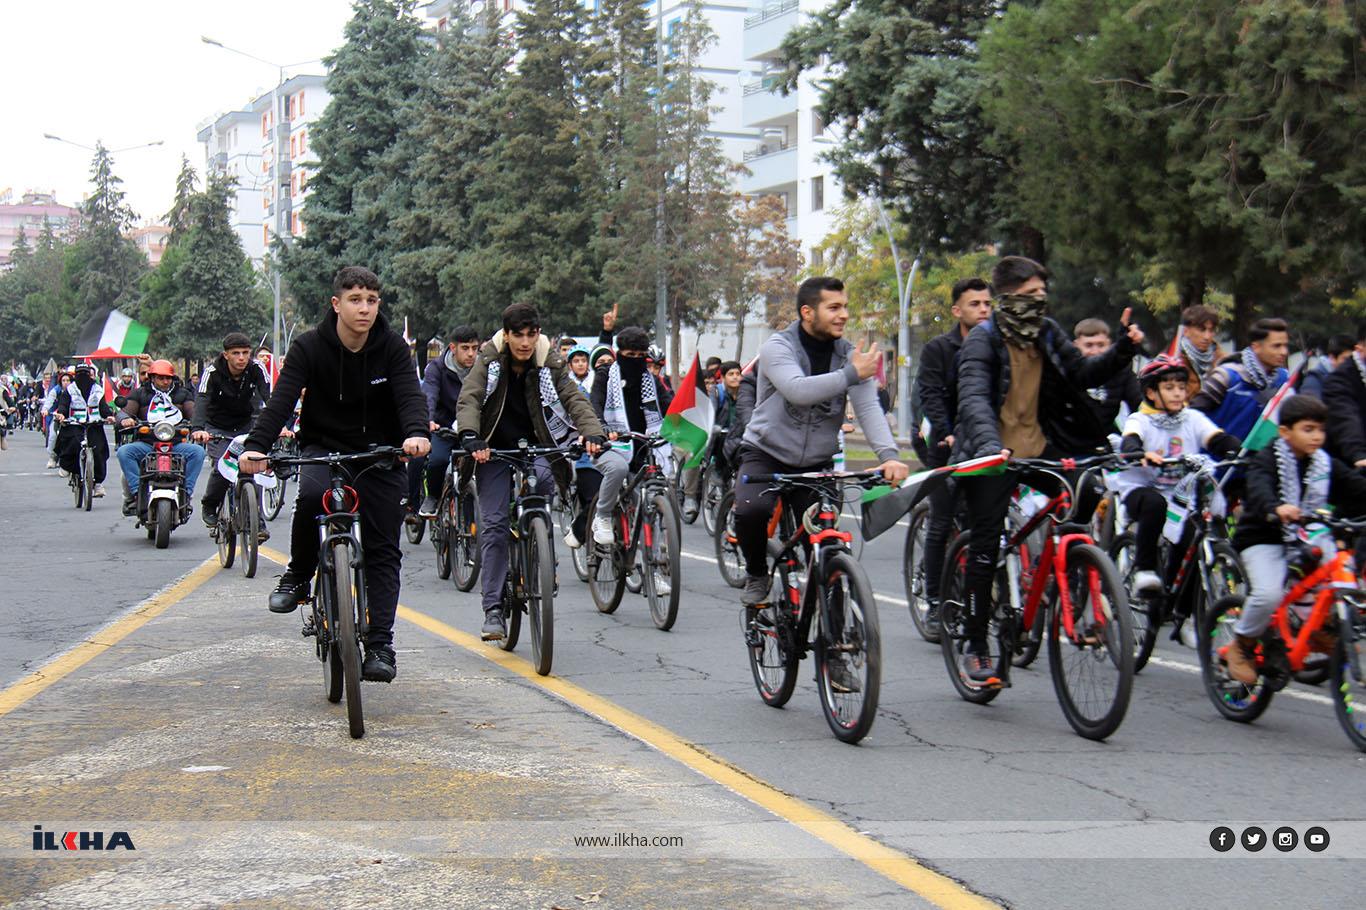
<instances>
[{"instance_id":1,"label":"black and red bicycle ridden by bearded man in grey jacket","mask_svg":"<svg viewBox=\"0 0 1366 910\"><path fill-rule=\"evenodd\" d=\"M816 654L816 687L825 723L841 742L855 743L873 728L881 686L882 645L873 585L850 549L852 534L839 529L840 484L874 486L880 471L747 474L743 484L772 484L788 500L772 568L772 601L744 607L740 626L754 686L764 704L781 708L796 687L796 665ZM816 495L798 519L794 491ZM805 581L803 581L805 575Z\"/></svg>"}]
</instances>

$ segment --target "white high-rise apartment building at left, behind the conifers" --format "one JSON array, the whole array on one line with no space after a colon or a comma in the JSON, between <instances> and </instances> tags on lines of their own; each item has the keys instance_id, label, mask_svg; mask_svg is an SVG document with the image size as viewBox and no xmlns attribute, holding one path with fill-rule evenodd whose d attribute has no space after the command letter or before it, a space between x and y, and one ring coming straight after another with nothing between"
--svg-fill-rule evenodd
<instances>
[{"instance_id":1,"label":"white high-rise apartment building at left, behind the conifers","mask_svg":"<svg viewBox=\"0 0 1366 910\"><path fill-rule=\"evenodd\" d=\"M305 231L313 124L331 98L326 77L296 75L199 130L205 169L236 179L232 227L257 266L273 236Z\"/></svg>"}]
</instances>

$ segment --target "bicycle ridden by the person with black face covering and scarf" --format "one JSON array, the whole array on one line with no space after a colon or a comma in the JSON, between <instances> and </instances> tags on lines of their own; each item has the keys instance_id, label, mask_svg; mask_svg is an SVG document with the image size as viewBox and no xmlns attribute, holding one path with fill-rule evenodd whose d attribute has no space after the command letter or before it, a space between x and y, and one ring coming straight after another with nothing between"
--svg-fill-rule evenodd
<instances>
[{"instance_id":1,"label":"bicycle ridden by the person with black face covering and scarf","mask_svg":"<svg viewBox=\"0 0 1366 910\"><path fill-rule=\"evenodd\" d=\"M668 631L678 620L683 593L679 512L668 474L657 458L668 440L641 433L623 433L620 439L647 451L639 469L622 486L612 512L615 540L609 545L594 544L589 553L589 594L598 611L612 613L622 604L628 577L638 573L656 629ZM597 514L597 497L589 514Z\"/></svg>"}]
</instances>

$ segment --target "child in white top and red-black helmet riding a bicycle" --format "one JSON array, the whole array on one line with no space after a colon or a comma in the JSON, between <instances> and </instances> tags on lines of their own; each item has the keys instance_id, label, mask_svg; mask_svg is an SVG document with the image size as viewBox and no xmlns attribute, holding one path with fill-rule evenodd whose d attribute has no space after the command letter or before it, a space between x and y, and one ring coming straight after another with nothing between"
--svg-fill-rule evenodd
<instances>
[{"instance_id":1,"label":"child in white top and red-black helmet riding a bicycle","mask_svg":"<svg viewBox=\"0 0 1366 910\"><path fill-rule=\"evenodd\" d=\"M1115 478L1115 486L1134 532L1134 593L1156 594L1162 589L1157 574L1157 541L1167 522L1167 507L1180 480L1179 471L1162 469L1162 460L1208 450L1220 458L1238 452L1239 440L1214 425L1203 413L1186 406L1187 369L1179 357L1160 354L1139 372L1143 403L1124 421L1120 451L1143 454L1143 463ZM1169 566L1168 570L1173 570Z\"/></svg>"}]
</instances>

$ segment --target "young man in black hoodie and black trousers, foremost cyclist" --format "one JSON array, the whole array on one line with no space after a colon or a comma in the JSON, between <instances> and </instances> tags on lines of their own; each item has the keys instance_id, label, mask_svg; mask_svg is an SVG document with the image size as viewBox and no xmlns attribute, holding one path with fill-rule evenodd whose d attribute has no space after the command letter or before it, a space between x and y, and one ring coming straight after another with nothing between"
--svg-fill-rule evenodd
<instances>
[{"instance_id":1,"label":"young man in black hoodie and black trousers, foremost cyclist","mask_svg":"<svg viewBox=\"0 0 1366 910\"><path fill-rule=\"evenodd\" d=\"M302 389L299 448L305 455L363 452L372 445L402 445L408 455L432 448L428 409L418 387L407 342L380 314L380 279L348 265L332 281L332 312L318 327L290 346L284 368L265 410L257 417L239 463L254 473L265 469L264 452L285 421ZM292 612L309 597L318 566L317 503L328 486L328 469L299 471L299 495L290 538L290 564L270 594L270 612ZM376 466L358 471L352 486L361 495L361 545L370 624L362 678L389 682L396 674L393 616L399 604L399 527L403 523L404 471Z\"/></svg>"}]
</instances>

